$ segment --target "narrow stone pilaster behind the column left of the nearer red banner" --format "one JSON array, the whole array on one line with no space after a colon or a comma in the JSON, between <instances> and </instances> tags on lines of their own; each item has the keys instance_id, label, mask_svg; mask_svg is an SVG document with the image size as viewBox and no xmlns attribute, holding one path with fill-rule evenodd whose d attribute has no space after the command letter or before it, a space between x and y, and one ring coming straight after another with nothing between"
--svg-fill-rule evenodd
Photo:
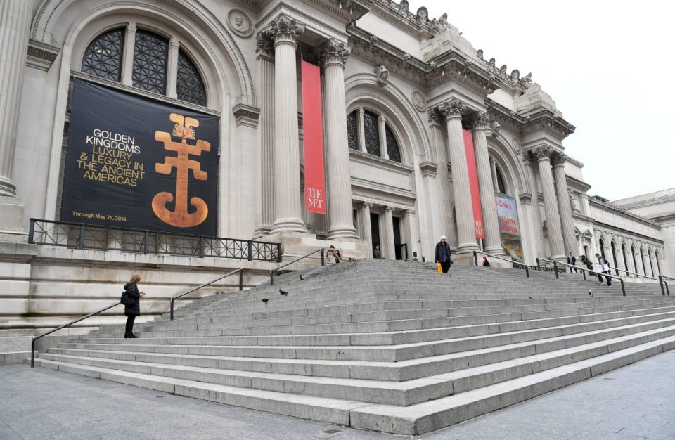
<instances>
[{"instance_id":1,"label":"narrow stone pilaster behind the column left of the nearer red banner","mask_svg":"<svg viewBox=\"0 0 675 440\"><path fill-rule=\"evenodd\" d=\"M262 32L257 34L258 93L260 103L260 163L255 238L268 235L274 222L274 48Z\"/></svg>"}]
</instances>

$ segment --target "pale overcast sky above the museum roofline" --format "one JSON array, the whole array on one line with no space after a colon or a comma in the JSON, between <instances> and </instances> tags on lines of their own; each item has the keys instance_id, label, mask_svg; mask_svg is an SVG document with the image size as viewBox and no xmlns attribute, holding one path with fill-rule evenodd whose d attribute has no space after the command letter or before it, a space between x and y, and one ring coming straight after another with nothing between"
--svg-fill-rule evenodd
<instances>
[{"instance_id":1,"label":"pale overcast sky above the museum roofline","mask_svg":"<svg viewBox=\"0 0 675 440\"><path fill-rule=\"evenodd\" d=\"M532 72L577 130L565 153L591 195L675 187L675 8L669 2L410 0L448 14L486 59Z\"/></svg>"}]
</instances>

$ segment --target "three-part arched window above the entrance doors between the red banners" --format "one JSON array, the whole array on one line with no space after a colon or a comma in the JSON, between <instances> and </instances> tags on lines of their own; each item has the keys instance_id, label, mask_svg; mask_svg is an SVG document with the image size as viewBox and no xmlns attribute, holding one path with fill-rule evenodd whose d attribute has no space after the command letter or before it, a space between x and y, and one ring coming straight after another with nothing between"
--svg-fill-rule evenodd
<instances>
[{"instance_id":1,"label":"three-part arched window above the entrance doors between the red banners","mask_svg":"<svg viewBox=\"0 0 675 440\"><path fill-rule=\"evenodd\" d=\"M361 115L363 120L361 121ZM402 163L401 149L396 134L384 118L371 110L354 110L347 115L347 144L352 150L365 151L369 155L385 157ZM384 133L382 127L384 126ZM361 134L363 127L363 134ZM361 145L361 143L364 145Z\"/></svg>"}]
</instances>

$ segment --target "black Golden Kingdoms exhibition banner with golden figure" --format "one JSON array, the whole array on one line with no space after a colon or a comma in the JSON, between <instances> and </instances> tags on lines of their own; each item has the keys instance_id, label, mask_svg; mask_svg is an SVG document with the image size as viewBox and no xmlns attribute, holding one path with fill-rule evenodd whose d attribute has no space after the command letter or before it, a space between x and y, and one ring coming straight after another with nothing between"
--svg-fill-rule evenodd
<instances>
[{"instance_id":1,"label":"black Golden Kingdoms exhibition banner with golden figure","mask_svg":"<svg viewBox=\"0 0 675 440\"><path fill-rule=\"evenodd\" d=\"M74 79L61 221L216 235L219 117Z\"/></svg>"}]
</instances>

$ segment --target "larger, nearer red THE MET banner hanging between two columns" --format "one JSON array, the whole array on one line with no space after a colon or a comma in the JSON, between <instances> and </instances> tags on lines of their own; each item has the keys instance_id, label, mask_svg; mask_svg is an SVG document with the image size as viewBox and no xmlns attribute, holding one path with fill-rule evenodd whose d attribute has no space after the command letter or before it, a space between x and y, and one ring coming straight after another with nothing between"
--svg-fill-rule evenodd
<instances>
[{"instance_id":1,"label":"larger, nearer red THE MET banner hanging between two columns","mask_svg":"<svg viewBox=\"0 0 675 440\"><path fill-rule=\"evenodd\" d=\"M323 123L319 66L302 61L302 129L304 130L304 206L326 214L323 177Z\"/></svg>"}]
</instances>

